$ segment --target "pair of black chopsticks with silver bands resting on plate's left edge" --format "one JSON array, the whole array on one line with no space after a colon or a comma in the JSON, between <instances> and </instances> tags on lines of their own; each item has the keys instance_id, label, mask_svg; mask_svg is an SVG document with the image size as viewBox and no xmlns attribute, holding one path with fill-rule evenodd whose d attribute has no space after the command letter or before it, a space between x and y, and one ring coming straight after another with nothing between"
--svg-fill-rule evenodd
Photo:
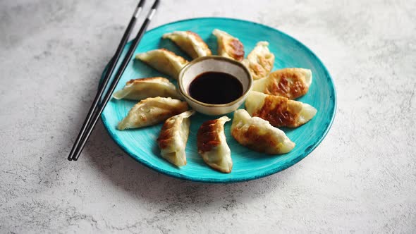
<instances>
[{"instance_id":1,"label":"pair of black chopsticks with silver bands resting on plate's left edge","mask_svg":"<svg viewBox=\"0 0 416 234\"><path fill-rule=\"evenodd\" d=\"M78 160L80 153L82 152L82 149L84 149L85 147L85 143L87 143L88 137L90 137L92 130L94 129L94 126L97 124L99 116L101 115L102 111L104 111L106 104L111 99L111 94L114 92L114 89L116 88L118 80L120 80L121 75L123 75L124 70L126 70L126 67L128 63L130 62L130 58L133 56L133 53L137 47L137 44L139 44L140 39L142 39L142 36L145 34L147 26L149 25L150 20L154 16L157 6L159 6L159 0L154 1L152 9L149 11L149 14L147 15L146 20L143 22L142 27L140 27L139 32L137 32L135 39L133 39L133 43L128 49L126 56L123 58L123 62L118 68L117 73L113 81L111 82L108 91L104 93L104 91L106 90L106 87L109 84L111 75L114 72L114 68L116 68L116 64L118 60L120 59L121 53L123 52L123 49L126 46L126 43L128 42L128 38L130 37L131 31L133 30L133 27L136 23L137 16L139 16L139 13L142 11L142 6L144 4L145 4L145 0L140 0L139 4L135 8L135 12L133 13L130 23L128 23L128 26L126 28L126 31L124 32L124 35L121 38L121 42L120 44L118 44L116 54L114 54L114 57L111 58L111 61L109 63L109 67L107 68L106 75L104 77L102 85L99 87L97 95L95 95L94 101L92 101L92 105L90 107L90 111L88 111L87 118L85 118L85 121L82 124L82 128L80 130L80 133L78 133L78 137L73 144L71 152L69 153L69 156L68 156L69 161ZM102 100L101 103L100 103L100 100Z\"/></svg>"}]
</instances>

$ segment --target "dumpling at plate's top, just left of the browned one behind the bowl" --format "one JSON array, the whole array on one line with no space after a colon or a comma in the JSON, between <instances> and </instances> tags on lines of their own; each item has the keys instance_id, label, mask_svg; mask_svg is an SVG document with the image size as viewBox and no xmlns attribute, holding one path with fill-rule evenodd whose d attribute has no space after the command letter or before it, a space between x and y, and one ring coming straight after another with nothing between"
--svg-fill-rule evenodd
<instances>
[{"instance_id":1,"label":"dumpling at plate's top, just left of the browned one behind the bowl","mask_svg":"<svg viewBox=\"0 0 416 234\"><path fill-rule=\"evenodd\" d=\"M208 45L202 40L200 35L197 35L195 32L175 31L164 34L163 38L171 39L191 58L212 55Z\"/></svg>"}]
</instances>

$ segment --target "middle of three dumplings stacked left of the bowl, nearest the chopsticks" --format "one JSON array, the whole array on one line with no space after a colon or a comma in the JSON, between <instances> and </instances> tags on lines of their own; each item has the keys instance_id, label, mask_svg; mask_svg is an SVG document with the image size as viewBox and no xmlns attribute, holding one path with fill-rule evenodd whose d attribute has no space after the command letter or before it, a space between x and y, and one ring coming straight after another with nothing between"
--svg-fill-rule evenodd
<instances>
[{"instance_id":1,"label":"middle of three dumplings stacked left of the bowl, nearest the chopsticks","mask_svg":"<svg viewBox=\"0 0 416 234\"><path fill-rule=\"evenodd\" d=\"M113 94L115 99L141 100L147 97L171 97L183 99L181 94L166 78L142 78L126 82L123 90L118 90Z\"/></svg>"}]
</instances>

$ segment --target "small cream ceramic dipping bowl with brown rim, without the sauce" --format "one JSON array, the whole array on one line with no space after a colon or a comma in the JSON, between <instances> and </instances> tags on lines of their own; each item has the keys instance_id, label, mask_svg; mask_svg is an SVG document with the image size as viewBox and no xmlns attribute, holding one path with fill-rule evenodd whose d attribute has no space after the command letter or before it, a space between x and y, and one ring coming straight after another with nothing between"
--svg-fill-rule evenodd
<instances>
[{"instance_id":1,"label":"small cream ceramic dipping bowl with brown rim, without the sauce","mask_svg":"<svg viewBox=\"0 0 416 234\"><path fill-rule=\"evenodd\" d=\"M241 82L241 85L243 85L243 94L241 97L226 104L207 104L192 98L190 96L191 82L197 78L198 75L207 72L220 72L233 75L233 77L237 78L238 81ZM217 85L221 85L221 83ZM217 116L233 112L243 104L243 101L245 101L248 93L252 89L252 76L242 63L231 58L223 56L204 56L196 58L182 68L178 76L178 87L182 96L185 98L185 101L188 102L192 109L207 115Z\"/></svg>"}]
</instances>

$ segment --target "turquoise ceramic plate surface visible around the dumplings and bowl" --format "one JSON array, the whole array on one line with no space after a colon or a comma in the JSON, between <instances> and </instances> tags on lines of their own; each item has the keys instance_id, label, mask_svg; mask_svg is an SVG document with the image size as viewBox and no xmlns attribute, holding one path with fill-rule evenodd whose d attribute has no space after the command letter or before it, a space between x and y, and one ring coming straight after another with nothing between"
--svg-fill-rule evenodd
<instances>
[{"instance_id":1,"label":"turquoise ceramic plate surface visible around the dumplings and bowl","mask_svg":"<svg viewBox=\"0 0 416 234\"><path fill-rule=\"evenodd\" d=\"M127 115L135 101L115 99L109 101L104 113L102 113L102 121L106 129L116 143L133 159L160 173L176 178L209 183L230 183L269 176L296 164L310 154L324 139L334 120L336 109L336 93L331 76L319 58L305 45L279 30L258 23L229 18L195 18L161 25L149 30L142 38L136 53L166 48L190 59L172 42L161 39L161 36L166 32L175 30L191 30L197 32L207 42L213 54L216 54L216 38L211 34L215 28L238 37L244 44L246 55L255 47L258 41L270 42L269 49L276 56L274 70L288 67L310 68L312 70L313 81L310 90L298 101L314 106L318 110L317 115L314 116L312 121L299 128L283 129L290 140L296 143L295 149L280 156L253 152L235 142L230 134L231 122L228 122L225 125L225 132L232 152L233 171L226 174L209 168L197 154L197 130L204 121L214 119L213 116L204 116L200 113L192 116L190 136L186 147L188 164L181 168L172 166L159 156L156 140L161 124L136 130L120 131L116 129L118 121L121 121ZM130 44L126 46L125 53L129 46ZM116 90L122 89L126 81L130 79L157 75L166 77L166 75L158 73L139 61L131 61ZM231 113L228 116L232 118L233 114Z\"/></svg>"}]
</instances>

